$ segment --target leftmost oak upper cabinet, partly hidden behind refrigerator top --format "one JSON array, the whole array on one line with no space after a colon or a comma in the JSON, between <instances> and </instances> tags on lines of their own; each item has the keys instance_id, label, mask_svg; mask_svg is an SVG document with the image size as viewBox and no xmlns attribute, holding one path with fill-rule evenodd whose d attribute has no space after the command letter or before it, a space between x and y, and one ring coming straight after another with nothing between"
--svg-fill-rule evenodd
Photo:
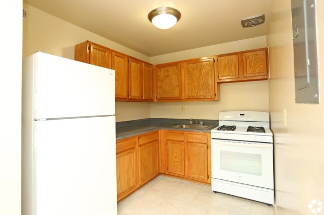
<instances>
[{"instance_id":1,"label":"leftmost oak upper cabinet, partly hidden behind refrigerator top","mask_svg":"<svg viewBox=\"0 0 324 215\"><path fill-rule=\"evenodd\" d=\"M111 50L85 41L74 46L74 60L111 69Z\"/></svg>"}]
</instances>

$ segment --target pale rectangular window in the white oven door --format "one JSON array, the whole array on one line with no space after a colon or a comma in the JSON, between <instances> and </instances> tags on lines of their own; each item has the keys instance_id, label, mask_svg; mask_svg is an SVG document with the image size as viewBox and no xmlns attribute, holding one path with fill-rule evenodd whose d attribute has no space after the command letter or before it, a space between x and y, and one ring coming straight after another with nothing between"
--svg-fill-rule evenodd
<instances>
[{"instance_id":1,"label":"pale rectangular window in the white oven door","mask_svg":"<svg viewBox=\"0 0 324 215\"><path fill-rule=\"evenodd\" d=\"M220 151L220 169L262 176L262 155L233 151Z\"/></svg>"}]
</instances>

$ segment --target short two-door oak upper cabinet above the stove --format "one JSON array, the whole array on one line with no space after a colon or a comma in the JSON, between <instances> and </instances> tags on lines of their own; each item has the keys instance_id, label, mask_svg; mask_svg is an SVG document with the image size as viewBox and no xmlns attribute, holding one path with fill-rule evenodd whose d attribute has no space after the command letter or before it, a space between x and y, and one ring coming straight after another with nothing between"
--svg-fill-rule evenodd
<instances>
[{"instance_id":1,"label":"short two-door oak upper cabinet above the stove","mask_svg":"<svg viewBox=\"0 0 324 215\"><path fill-rule=\"evenodd\" d=\"M216 56L217 82L241 82L268 79L268 48Z\"/></svg>"}]
</instances>

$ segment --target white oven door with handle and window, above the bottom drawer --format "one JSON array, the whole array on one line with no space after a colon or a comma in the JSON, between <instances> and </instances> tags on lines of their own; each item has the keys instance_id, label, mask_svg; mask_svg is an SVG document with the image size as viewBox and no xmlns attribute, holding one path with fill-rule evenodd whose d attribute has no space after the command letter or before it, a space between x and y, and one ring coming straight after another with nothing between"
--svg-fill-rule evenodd
<instances>
[{"instance_id":1,"label":"white oven door with handle and window, above the bottom drawer","mask_svg":"<svg viewBox=\"0 0 324 215\"><path fill-rule=\"evenodd\" d=\"M212 178L273 189L273 147L211 139Z\"/></svg>"}]
</instances>

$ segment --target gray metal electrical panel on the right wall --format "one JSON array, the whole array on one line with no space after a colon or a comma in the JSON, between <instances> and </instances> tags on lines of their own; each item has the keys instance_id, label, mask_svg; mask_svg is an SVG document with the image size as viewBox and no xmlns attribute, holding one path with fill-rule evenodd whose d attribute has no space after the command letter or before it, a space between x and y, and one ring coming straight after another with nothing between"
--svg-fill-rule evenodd
<instances>
[{"instance_id":1,"label":"gray metal electrical panel on the right wall","mask_svg":"<svg viewBox=\"0 0 324 215\"><path fill-rule=\"evenodd\" d=\"M296 103L319 103L315 0L291 0Z\"/></svg>"}]
</instances>

